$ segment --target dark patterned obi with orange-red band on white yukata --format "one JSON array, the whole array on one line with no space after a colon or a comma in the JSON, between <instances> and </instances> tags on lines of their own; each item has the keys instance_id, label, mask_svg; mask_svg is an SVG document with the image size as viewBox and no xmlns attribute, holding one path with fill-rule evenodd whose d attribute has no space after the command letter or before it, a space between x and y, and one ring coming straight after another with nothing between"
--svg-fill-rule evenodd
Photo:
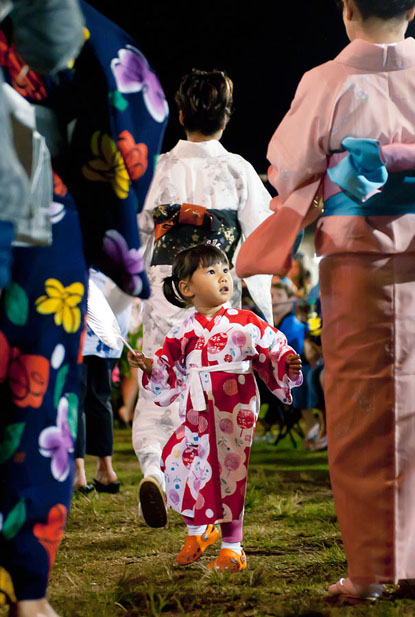
<instances>
[{"instance_id":1,"label":"dark patterned obi with orange-red band on white yukata","mask_svg":"<svg viewBox=\"0 0 415 617\"><path fill-rule=\"evenodd\" d=\"M167 204L153 210L155 224L152 266L171 265L179 251L211 243L232 262L241 237L237 210L208 210L194 204Z\"/></svg>"}]
</instances>

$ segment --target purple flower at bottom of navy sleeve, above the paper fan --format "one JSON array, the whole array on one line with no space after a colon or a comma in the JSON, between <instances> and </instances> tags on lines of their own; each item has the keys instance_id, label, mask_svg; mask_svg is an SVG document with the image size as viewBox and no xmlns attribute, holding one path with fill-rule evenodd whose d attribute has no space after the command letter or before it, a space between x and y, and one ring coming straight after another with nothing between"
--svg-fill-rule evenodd
<instances>
[{"instance_id":1,"label":"purple flower at bottom of navy sleeve, above the paper fan","mask_svg":"<svg viewBox=\"0 0 415 617\"><path fill-rule=\"evenodd\" d=\"M106 232L103 253L107 261L107 271L126 293L136 296L143 283L140 274L144 271L144 260L138 249L129 249L125 238L116 230Z\"/></svg>"}]
</instances>

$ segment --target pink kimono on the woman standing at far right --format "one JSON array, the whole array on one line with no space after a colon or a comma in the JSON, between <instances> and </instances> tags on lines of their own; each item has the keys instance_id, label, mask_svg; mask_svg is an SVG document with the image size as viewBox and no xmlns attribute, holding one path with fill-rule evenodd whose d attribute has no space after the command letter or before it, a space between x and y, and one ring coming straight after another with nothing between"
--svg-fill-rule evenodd
<instances>
[{"instance_id":1,"label":"pink kimono on the woman standing at far right","mask_svg":"<svg viewBox=\"0 0 415 617\"><path fill-rule=\"evenodd\" d=\"M275 213L236 264L240 277L286 272L325 202L329 463L349 576L363 584L415 578L414 141L414 39L355 40L306 73L269 145Z\"/></svg>"}]
</instances>

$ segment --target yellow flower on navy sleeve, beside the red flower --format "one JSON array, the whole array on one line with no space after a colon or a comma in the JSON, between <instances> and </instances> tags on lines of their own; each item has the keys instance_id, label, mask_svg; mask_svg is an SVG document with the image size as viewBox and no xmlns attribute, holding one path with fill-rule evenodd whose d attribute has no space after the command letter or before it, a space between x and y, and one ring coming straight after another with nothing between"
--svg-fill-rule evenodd
<instances>
[{"instance_id":1,"label":"yellow flower on navy sleeve, beside the red flower","mask_svg":"<svg viewBox=\"0 0 415 617\"><path fill-rule=\"evenodd\" d=\"M117 197L125 199L130 190L130 177L115 141L109 135L95 131L91 150L96 158L82 167L85 178L94 182L109 182Z\"/></svg>"}]
</instances>

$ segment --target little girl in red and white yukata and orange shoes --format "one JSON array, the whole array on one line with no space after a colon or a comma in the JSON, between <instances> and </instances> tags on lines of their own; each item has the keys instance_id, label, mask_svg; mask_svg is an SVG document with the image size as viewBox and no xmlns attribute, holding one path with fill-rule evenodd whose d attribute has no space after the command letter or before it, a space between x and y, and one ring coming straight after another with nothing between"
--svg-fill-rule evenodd
<instances>
[{"instance_id":1,"label":"little girl in red and white yukata and orange shoes","mask_svg":"<svg viewBox=\"0 0 415 617\"><path fill-rule=\"evenodd\" d=\"M284 402L301 384L301 360L285 337L247 310L231 308L232 277L226 255L209 244L176 256L164 281L166 298L196 310L168 333L153 360L130 354L145 373L154 401L180 399L183 423L164 447L167 505L180 512L188 536L179 565L201 557L216 542L222 548L211 568L242 570L243 507L252 435L258 415L253 369Z\"/></svg>"}]
</instances>

